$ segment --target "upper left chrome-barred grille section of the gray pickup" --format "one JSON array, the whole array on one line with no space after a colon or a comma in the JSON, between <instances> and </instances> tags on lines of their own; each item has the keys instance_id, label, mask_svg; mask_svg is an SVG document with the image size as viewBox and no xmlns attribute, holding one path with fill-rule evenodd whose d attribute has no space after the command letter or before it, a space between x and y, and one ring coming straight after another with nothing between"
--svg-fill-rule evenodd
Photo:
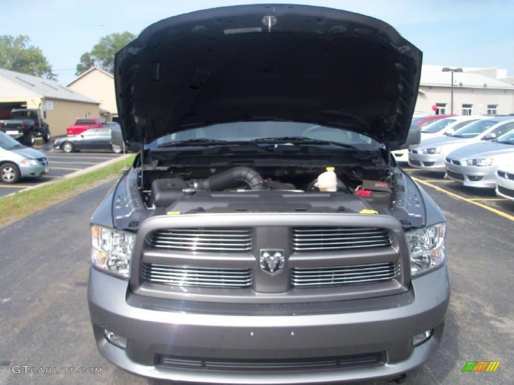
<instances>
[{"instance_id":1,"label":"upper left chrome-barred grille section of the gray pickup","mask_svg":"<svg viewBox=\"0 0 514 385\"><path fill-rule=\"evenodd\" d=\"M175 228L154 231L150 246L169 250L244 252L251 249L250 228Z\"/></svg>"}]
</instances>

